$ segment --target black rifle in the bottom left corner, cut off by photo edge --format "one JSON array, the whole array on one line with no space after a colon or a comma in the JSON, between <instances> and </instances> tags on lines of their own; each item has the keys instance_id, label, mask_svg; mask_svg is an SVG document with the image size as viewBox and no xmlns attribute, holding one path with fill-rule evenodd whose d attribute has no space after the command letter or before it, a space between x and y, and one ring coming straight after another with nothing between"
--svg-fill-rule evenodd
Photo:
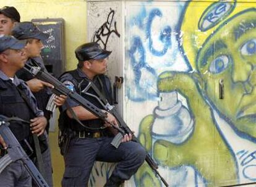
<instances>
[{"instance_id":1,"label":"black rifle in the bottom left corner, cut off by photo edge","mask_svg":"<svg viewBox=\"0 0 256 187\"><path fill-rule=\"evenodd\" d=\"M45 179L42 177L41 173L38 172L33 162L23 150L22 146L20 146L19 141L15 138L14 134L9 129L8 121L11 120L22 121L22 119L19 119L17 117L7 118L6 116L0 115L0 135L8 146L8 154L5 154L0 159L0 173L2 173L2 170L4 170L7 165L20 160L24 164L24 167L28 171L30 176L33 178L33 180L35 180L36 185L38 185L39 187L49 187Z\"/></svg>"}]
</instances>

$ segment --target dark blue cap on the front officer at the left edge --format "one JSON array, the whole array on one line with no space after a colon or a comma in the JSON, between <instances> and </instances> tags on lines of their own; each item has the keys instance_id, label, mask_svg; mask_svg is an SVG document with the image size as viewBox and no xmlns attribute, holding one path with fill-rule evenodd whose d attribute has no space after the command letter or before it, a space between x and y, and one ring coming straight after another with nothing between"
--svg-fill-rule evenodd
<instances>
[{"instance_id":1,"label":"dark blue cap on the front officer at the left edge","mask_svg":"<svg viewBox=\"0 0 256 187\"><path fill-rule=\"evenodd\" d=\"M23 49L25 47L25 43L19 41L18 39L14 38L13 36L0 36L0 54L7 49Z\"/></svg>"}]
</instances>

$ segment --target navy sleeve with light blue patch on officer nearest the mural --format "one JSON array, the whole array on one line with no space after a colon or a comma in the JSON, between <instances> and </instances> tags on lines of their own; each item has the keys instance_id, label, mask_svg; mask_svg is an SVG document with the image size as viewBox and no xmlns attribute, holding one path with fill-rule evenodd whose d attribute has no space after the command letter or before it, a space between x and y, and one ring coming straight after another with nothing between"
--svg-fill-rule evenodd
<instances>
[{"instance_id":1,"label":"navy sleeve with light blue patch on officer nearest the mural","mask_svg":"<svg viewBox=\"0 0 256 187\"><path fill-rule=\"evenodd\" d=\"M64 83L64 85L74 91L77 92L77 82L75 81L75 79L72 77L71 74L66 73L63 76L61 76L61 78L59 79L61 82ZM75 107L75 106L79 106L79 103L75 102L74 100L72 100L70 97L67 97L67 105L70 106L70 108ZM67 105L64 104L61 106L62 110L65 111L67 109Z\"/></svg>"}]
</instances>

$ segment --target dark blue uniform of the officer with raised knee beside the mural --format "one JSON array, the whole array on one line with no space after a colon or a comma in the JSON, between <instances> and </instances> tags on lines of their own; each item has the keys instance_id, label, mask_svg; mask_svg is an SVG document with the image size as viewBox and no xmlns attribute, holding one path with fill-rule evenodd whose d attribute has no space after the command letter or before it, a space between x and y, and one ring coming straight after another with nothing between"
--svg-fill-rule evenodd
<instances>
[{"instance_id":1,"label":"dark blue uniform of the officer with raised knee beside the mural","mask_svg":"<svg viewBox=\"0 0 256 187\"><path fill-rule=\"evenodd\" d=\"M98 108L103 109L98 100L83 93L88 81L82 70L69 71L63 74L60 79L69 89L74 90ZM109 103L112 103L109 79L106 76L99 75L95 77L93 82L101 94L105 95ZM88 89L87 92L96 95L92 88ZM79 106L70 98L67 98L67 103L71 108ZM67 117L66 110L67 107L63 106L61 117ZM74 136L70 140L67 153L64 153L65 172L62 178L62 186L87 186L95 161L117 162L111 177L119 180L117 182L128 180L145 160L145 149L134 141L121 143L119 148L116 149L110 144L113 136L110 135L108 129L103 128L104 122L101 119L82 121L82 123L89 128L83 127L69 117L64 121L64 125L72 129L70 133L72 132Z\"/></svg>"}]
</instances>

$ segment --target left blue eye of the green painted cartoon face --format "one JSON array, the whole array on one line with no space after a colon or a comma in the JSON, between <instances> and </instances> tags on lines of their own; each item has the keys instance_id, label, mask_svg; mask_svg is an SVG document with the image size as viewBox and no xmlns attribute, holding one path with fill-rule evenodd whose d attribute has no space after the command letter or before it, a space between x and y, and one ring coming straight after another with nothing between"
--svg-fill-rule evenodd
<instances>
[{"instance_id":1,"label":"left blue eye of the green painted cartoon face","mask_svg":"<svg viewBox=\"0 0 256 187\"><path fill-rule=\"evenodd\" d=\"M210 63L209 71L211 73L221 73L228 67L228 64L229 64L228 56L221 55L220 57L215 58L215 60L213 60Z\"/></svg>"}]
</instances>

